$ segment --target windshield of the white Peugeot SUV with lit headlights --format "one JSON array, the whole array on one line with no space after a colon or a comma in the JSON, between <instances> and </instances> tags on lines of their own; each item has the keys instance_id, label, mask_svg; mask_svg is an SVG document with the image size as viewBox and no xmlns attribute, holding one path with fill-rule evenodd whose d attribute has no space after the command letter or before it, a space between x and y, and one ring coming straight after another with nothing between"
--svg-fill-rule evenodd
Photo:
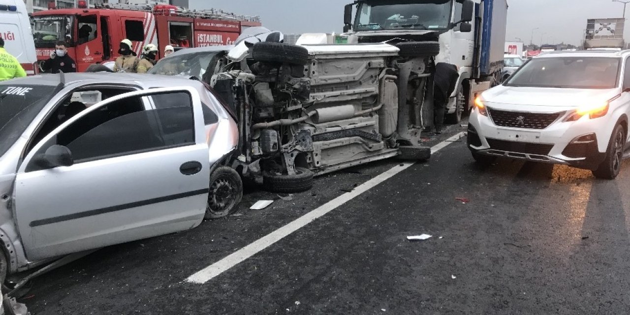
<instances>
[{"instance_id":1,"label":"windshield of the white Peugeot SUV with lit headlights","mask_svg":"<svg viewBox=\"0 0 630 315\"><path fill-rule=\"evenodd\" d=\"M539 88L615 88L619 79L619 60L613 57L535 58L510 77L504 85Z\"/></svg>"}]
</instances>

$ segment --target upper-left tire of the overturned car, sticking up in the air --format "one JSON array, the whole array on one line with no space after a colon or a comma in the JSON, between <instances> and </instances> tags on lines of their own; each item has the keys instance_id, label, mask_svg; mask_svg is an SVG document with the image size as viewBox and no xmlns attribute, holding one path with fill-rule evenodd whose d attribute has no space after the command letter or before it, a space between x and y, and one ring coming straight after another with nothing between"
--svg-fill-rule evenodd
<instances>
[{"instance_id":1,"label":"upper-left tire of the overturned car, sticking up in the air","mask_svg":"<svg viewBox=\"0 0 630 315\"><path fill-rule=\"evenodd\" d=\"M309 63L309 51L288 43L260 42L254 45L252 57L261 62L277 62L304 66Z\"/></svg>"}]
</instances>

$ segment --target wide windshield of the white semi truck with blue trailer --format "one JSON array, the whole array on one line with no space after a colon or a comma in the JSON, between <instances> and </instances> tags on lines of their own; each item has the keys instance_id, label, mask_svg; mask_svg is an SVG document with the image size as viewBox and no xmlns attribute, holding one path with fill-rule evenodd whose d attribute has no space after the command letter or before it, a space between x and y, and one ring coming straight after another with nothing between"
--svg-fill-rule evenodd
<instances>
[{"instance_id":1,"label":"wide windshield of the white semi truck with blue trailer","mask_svg":"<svg viewBox=\"0 0 630 315\"><path fill-rule=\"evenodd\" d=\"M448 0L368 0L359 4L355 30L439 30L450 23Z\"/></svg>"}]
</instances>

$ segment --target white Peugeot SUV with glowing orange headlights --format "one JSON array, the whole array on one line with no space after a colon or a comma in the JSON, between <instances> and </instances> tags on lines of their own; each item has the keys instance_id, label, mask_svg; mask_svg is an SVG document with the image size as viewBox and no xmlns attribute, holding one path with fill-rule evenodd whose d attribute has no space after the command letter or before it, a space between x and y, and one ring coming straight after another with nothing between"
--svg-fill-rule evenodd
<instances>
[{"instance_id":1,"label":"white Peugeot SUV with glowing orange headlights","mask_svg":"<svg viewBox=\"0 0 630 315\"><path fill-rule=\"evenodd\" d=\"M614 179L630 157L627 92L630 50L536 57L474 101L468 147L482 164L505 156Z\"/></svg>"}]
</instances>

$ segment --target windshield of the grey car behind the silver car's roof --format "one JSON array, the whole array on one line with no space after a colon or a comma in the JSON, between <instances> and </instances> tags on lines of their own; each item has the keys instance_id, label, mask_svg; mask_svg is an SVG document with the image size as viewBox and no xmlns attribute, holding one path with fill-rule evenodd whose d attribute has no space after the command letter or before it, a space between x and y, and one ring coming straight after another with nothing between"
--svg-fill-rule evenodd
<instances>
[{"instance_id":1,"label":"windshield of the grey car behind the silver car's roof","mask_svg":"<svg viewBox=\"0 0 630 315\"><path fill-rule=\"evenodd\" d=\"M217 53L219 52L198 52L168 57L157 62L149 73L165 76L195 76L201 79L210 64L210 60Z\"/></svg>"}]
</instances>

